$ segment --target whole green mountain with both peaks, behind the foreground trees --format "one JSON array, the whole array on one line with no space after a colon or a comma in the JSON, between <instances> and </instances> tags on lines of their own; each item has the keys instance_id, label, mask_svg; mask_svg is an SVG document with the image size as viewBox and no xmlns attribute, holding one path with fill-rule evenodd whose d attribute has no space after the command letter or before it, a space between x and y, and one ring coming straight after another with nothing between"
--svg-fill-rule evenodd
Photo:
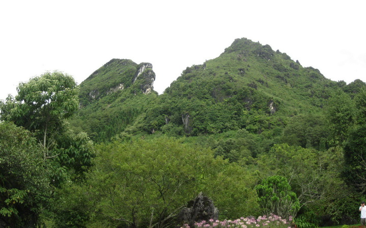
<instances>
[{"instance_id":1,"label":"whole green mountain with both peaks, behind the foreground trees","mask_svg":"<svg viewBox=\"0 0 366 228\"><path fill-rule=\"evenodd\" d=\"M336 91L352 95L364 87L362 81L333 82L318 69L245 38L219 57L187 67L162 95L153 90L154 80L151 64L112 59L80 84L81 108L70 122L96 141L241 131L267 140L269 147L285 140L284 130L294 121L322 118ZM326 134L312 137L310 145L319 147Z\"/></svg>"}]
</instances>

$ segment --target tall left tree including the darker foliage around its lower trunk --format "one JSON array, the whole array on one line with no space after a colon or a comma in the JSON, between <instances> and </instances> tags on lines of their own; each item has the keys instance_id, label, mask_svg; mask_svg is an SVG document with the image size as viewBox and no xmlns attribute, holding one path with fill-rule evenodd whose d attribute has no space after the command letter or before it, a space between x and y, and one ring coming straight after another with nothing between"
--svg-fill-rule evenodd
<instances>
[{"instance_id":1,"label":"tall left tree including the darker foliage around its lower trunk","mask_svg":"<svg viewBox=\"0 0 366 228\"><path fill-rule=\"evenodd\" d=\"M20 83L17 90L15 98L9 96L0 105L1 120L34 132L44 161L52 164L53 184L69 174L81 174L83 167L91 165L94 150L86 134L74 134L65 123L79 105L79 87L74 79L62 72L47 72Z\"/></svg>"}]
</instances>

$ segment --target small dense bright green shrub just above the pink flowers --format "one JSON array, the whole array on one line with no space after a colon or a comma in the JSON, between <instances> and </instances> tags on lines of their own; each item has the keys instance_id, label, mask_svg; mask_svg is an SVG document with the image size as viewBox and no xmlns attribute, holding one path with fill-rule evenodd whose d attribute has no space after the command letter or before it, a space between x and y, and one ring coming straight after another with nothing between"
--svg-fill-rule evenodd
<instances>
[{"instance_id":1,"label":"small dense bright green shrub just above the pink flowers","mask_svg":"<svg viewBox=\"0 0 366 228\"><path fill-rule=\"evenodd\" d=\"M296 194L283 176L270 176L256 186L258 201L263 213L275 214L283 218L295 216L300 205Z\"/></svg>"}]
</instances>

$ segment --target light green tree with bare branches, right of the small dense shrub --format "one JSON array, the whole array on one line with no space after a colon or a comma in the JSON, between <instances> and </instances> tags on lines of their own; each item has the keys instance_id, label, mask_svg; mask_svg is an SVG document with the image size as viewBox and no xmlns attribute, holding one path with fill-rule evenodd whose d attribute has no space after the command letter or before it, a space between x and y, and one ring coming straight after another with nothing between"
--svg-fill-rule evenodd
<instances>
[{"instance_id":1,"label":"light green tree with bare branches, right of the small dense shrub","mask_svg":"<svg viewBox=\"0 0 366 228\"><path fill-rule=\"evenodd\" d=\"M333 205L352 193L340 175L344 167L342 147L318 151L280 144L273 146L270 153L261 155L257 164L264 177L282 175L288 178L299 199L299 215L303 219L315 224L321 224L323 217L341 222L338 215L346 212Z\"/></svg>"}]
</instances>

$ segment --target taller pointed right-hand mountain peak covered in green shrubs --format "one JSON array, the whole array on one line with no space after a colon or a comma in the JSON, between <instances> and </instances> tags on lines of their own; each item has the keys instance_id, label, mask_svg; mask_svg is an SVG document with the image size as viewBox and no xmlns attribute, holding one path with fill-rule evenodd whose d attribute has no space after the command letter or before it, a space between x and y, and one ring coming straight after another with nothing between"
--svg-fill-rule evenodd
<instances>
[{"instance_id":1,"label":"taller pointed right-hand mountain peak covered in green shrubs","mask_svg":"<svg viewBox=\"0 0 366 228\"><path fill-rule=\"evenodd\" d=\"M220 57L184 70L159 108L188 135L242 128L261 133L283 126L284 117L319 112L336 87L285 53L238 39Z\"/></svg>"}]
</instances>

